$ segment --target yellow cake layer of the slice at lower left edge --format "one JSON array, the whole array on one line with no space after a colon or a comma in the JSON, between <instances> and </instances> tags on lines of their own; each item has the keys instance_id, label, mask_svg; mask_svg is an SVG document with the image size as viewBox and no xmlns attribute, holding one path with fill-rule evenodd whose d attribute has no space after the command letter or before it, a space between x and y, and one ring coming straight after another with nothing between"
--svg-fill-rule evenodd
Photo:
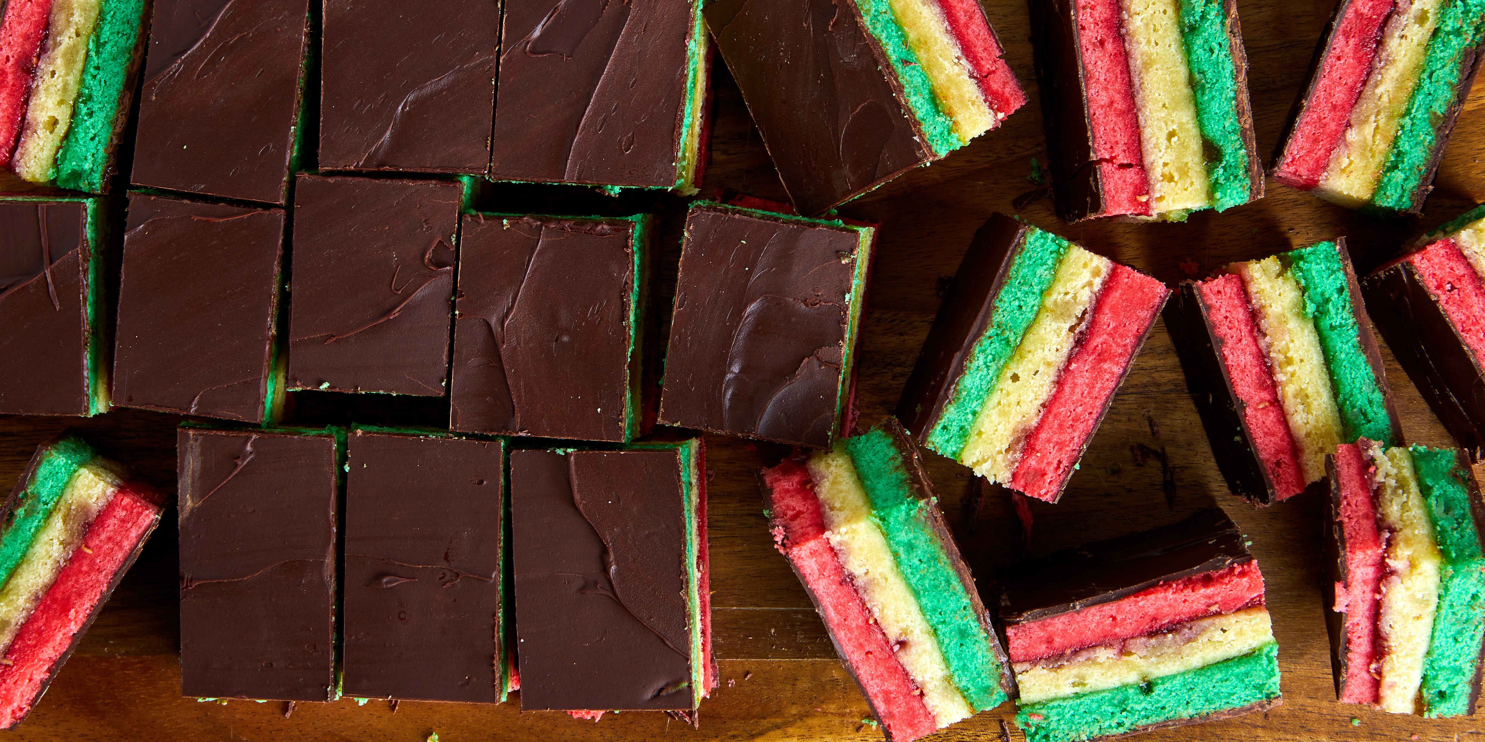
<instances>
[{"instance_id":1,"label":"yellow cake layer of the slice at lower left edge","mask_svg":"<svg viewBox=\"0 0 1485 742\"><path fill-rule=\"evenodd\" d=\"M68 556L88 534L88 525L117 491L117 478L94 464L77 469L56 509L36 534L21 564L0 588L0 654L10 647L21 625L56 582Z\"/></svg>"}]
</instances>

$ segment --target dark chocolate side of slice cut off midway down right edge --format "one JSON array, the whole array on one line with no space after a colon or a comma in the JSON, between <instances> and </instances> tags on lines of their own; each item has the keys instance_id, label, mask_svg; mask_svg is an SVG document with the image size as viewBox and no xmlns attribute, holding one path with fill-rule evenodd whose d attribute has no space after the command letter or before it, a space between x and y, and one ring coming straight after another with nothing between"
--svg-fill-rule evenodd
<instances>
[{"instance_id":1,"label":"dark chocolate side of slice cut off midway down right edge","mask_svg":"<svg viewBox=\"0 0 1485 742\"><path fill-rule=\"evenodd\" d=\"M1377 329L1433 414L1476 462L1485 448L1485 368L1406 260L1366 278Z\"/></svg>"}]
</instances>

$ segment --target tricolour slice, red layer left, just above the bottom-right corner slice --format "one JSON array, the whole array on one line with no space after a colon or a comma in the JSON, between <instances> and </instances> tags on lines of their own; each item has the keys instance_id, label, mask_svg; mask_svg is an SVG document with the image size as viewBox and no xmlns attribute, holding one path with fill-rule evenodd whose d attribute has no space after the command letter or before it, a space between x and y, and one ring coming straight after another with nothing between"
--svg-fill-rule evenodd
<instances>
[{"instance_id":1,"label":"tricolour slice, red layer left, just above the bottom-right corner slice","mask_svg":"<svg viewBox=\"0 0 1485 742\"><path fill-rule=\"evenodd\" d=\"M1166 326L1234 494L1283 500L1336 444L1402 441L1344 237L1187 280Z\"/></svg>"}]
</instances>

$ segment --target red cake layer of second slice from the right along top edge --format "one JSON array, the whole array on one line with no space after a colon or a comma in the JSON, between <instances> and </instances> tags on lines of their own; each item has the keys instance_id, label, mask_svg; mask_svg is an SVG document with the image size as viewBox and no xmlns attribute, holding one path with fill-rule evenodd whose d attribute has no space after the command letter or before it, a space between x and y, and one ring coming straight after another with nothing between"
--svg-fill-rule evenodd
<instances>
[{"instance_id":1,"label":"red cake layer of second slice from the right along top edge","mask_svg":"<svg viewBox=\"0 0 1485 742\"><path fill-rule=\"evenodd\" d=\"M1078 0L1078 52L1103 190L1099 215L1149 215L1149 175L1139 148L1139 116L1118 0Z\"/></svg>"}]
</instances>

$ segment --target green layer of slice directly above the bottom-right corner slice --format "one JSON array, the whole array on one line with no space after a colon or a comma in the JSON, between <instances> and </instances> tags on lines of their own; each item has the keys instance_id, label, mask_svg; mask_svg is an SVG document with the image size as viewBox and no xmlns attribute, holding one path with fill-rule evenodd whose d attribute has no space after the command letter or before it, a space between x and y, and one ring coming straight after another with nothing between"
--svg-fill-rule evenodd
<instances>
[{"instance_id":1,"label":"green layer of slice directly above the bottom-right corner slice","mask_svg":"<svg viewBox=\"0 0 1485 742\"><path fill-rule=\"evenodd\" d=\"M1304 289L1305 309L1320 335L1345 441L1369 438L1391 445L1387 399L1362 349L1347 272L1336 245L1320 242L1290 251L1286 258Z\"/></svg>"}]
</instances>

